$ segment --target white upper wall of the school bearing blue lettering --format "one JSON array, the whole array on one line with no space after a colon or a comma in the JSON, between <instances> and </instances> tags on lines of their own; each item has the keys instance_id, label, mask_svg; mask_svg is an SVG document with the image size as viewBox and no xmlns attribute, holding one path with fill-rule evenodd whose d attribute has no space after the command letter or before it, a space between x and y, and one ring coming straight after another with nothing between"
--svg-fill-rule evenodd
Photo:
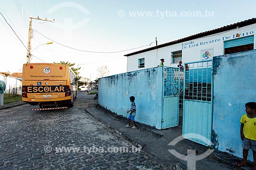
<instances>
[{"instance_id":1,"label":"white upper wall of the school bearing blue lettering","mask_svg":"<svg viewBox=\"0 0 256 170\"><path fill-rule=\"evenodd\" d=\"M254 35L255 32L256 23L227 32L222 32L211 36L194 39L191 41L185 41L182 43L161 47L156 50L129 56L127 57L127 72L156 67L157 65L159 65L161 58L164 58L165 66L176 67L178 64L171 63L171 55L172 52L179 50L182 50L183 66L185 62L203 60L203 58L201 57L201 51L209 48L213 48L213 55L211 55L212 59L213 56L224 55L224 41ZM236 36L237 33L240 34L240 37ZM255 42L256 40L254 38L254 44ZM195 44L198 44L198 46L194 46ZM254 49L256 49L255 46L256 45L254 45ZM143 68L138 68L138 60L140 58L145 58L145 67Z\"/></svg>"}]
</instances>

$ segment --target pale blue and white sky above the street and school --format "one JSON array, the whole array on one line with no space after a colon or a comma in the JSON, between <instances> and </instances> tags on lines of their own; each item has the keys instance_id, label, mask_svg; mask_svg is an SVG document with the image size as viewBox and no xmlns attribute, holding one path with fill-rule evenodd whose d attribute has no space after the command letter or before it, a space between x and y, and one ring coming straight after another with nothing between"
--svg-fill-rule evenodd
<instances>
[{"instance_id":1,"label":"pale blue and white sky above the street and school","mask_svg":"<svg viewBox=\"0 0 256 170\"><path fill-rule=\"evenodd\" d=\"M0 0L0 72L22 72L30 16L54 20L32 19L31 63L68 61L95 80L101 66L109 76L126 72L124 55L156 45L156 37L162 44L251 19L255 7L254 0Z\"/></svg>"}]
</instances>

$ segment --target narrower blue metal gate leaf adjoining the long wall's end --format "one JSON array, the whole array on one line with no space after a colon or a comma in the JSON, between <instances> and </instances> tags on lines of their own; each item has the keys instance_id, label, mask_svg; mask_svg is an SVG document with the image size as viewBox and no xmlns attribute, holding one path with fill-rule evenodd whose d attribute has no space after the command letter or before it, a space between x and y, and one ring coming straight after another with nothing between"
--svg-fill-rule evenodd
<instances>
[{"instance_id":1,"label":"narrower blue metal gate leaf adjoining the long wall's end","mask_svg":"<svg viewBox=\"0 0 256 170\"><path fill-rule=\"evenodd\" d=\"M179 125L180 69L163 69L163 111L162 129Z\"/></svg>"}]
</instances>

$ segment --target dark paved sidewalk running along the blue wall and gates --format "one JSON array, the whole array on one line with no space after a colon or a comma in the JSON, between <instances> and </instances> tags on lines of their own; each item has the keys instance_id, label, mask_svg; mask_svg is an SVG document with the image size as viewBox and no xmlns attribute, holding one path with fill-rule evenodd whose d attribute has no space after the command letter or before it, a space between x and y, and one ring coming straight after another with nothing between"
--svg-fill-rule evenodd
<instances>
[{"instance_id":1,"label":"dark paved sidewalk running along the blue wall and gates","mask_svg":"<svg viewBox=\"0 0 256 170\"><path fill-rule=\"evenodd\" d=\"M100 106L89 106L86 112L94 118L100 120L103 124L108 126L111 130L115 131L125 139L131 141L137 147L143 148L143 151L150 154L158 164L164 167L178 167L181 169L187 168L187 161L181 160L171 154L168 150L175 150L178 153L187 155L187 150L196 150L196 155L201 155L209 150L204 145L196 142L182 139L176 145L168 145L174 139L182 135L182 126L169 128L165 130L157 130L153 127L137 123L139 129L125 128L127 118L114 114ZM132 125L132 123L131 123ZM184 159L184 158L183 158ZM196 161L196 169L252 169L252 167L238 167L236 164L239 160L230 154L224 152L214 151L208 157Z\"/></svg>"}]
</instances>

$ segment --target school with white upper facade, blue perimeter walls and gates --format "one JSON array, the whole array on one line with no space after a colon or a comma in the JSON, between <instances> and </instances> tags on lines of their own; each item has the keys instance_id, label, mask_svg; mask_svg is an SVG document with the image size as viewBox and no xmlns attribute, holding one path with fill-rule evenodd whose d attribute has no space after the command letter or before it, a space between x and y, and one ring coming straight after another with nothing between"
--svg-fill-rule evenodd
<instances>
[{"instance_id":1,"label":"school with white upper facade, blue perimeter walls and gates","mask_svg":"<svg viewBox=\"0 0 256 170\"><path fill-rule=\"evenodd\" d=\"M99 79L99 105L127 117L134 95L137 122L159 130L182 124L184 138L242 158L240 119L256 94L255 28L252 18L127 54L126 73Z\"/></svg>"}]
</instances>

